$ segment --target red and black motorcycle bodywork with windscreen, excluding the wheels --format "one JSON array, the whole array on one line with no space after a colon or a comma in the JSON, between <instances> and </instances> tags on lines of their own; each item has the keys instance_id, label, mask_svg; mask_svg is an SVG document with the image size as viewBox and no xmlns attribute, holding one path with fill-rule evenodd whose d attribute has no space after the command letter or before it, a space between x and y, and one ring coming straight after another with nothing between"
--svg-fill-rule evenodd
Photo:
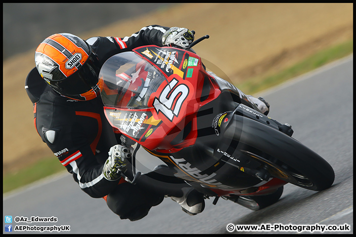
<instances>
[{"instance_id":1,"label":"red and black motorcycle bodywork with windscreen, excluding the wheels","mask_svg":"<svg viewBox=\"0 0 356 237\"><path fill-rule=\"evenodd\" d=\"M105 114L114 128L207 195L265 194L287 183L252 176L248 170L260 163L223 135L228 124L235 129L238 113L269 120L278 130L245 94L207 72L191 51L155 45L133 51L108 59L99 76Z\"/></svg>"}]
</instances>

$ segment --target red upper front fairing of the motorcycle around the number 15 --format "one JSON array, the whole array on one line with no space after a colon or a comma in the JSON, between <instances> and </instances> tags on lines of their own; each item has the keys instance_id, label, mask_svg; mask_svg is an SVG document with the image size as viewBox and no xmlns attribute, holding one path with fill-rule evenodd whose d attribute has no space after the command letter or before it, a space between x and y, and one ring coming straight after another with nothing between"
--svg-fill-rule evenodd
<instances>
[{"instance_id":1,"label":"red upper front fairing of the motorcycle around the number 15","mask_svg":"<svg viewBox=\"0 0 356 237\"><path fill-rule=\"evenodd\" d=\"M171 47L144 46L134 49L134 52L136 57L143 57L156 67L148 69L149 66L143 64L140 71L135 72L134 79L125 72L116 73L116 80L121 84L126 82L123 86L126 91L120 96L121 100L107 99L110 94L116 96L118 92L108 88L107 77L103 80L102 75L99 76L103 88L101 94L104 109L111 125L151 151L172 153L194 145L197 137L197 112L221 94L218 85L203 69L200 57L192 52ZM108 61L115 61L113 57ZM157 80L147 78L148 71L143 70L143 66L161 74L161 81L153 85ZM150 87L156 88L147 88L151 90L149 95L141 99L145 100L144 104L133 105L131 100L136 96L138 87L143 87L141 92L145 89L147 79L150 80ZM209 85L206 85L207 83ZM135 102L139 98L137 97ZM191 132L177 143L176 136L188 124L191 126Z\"/></svg>"}]
</instances>

